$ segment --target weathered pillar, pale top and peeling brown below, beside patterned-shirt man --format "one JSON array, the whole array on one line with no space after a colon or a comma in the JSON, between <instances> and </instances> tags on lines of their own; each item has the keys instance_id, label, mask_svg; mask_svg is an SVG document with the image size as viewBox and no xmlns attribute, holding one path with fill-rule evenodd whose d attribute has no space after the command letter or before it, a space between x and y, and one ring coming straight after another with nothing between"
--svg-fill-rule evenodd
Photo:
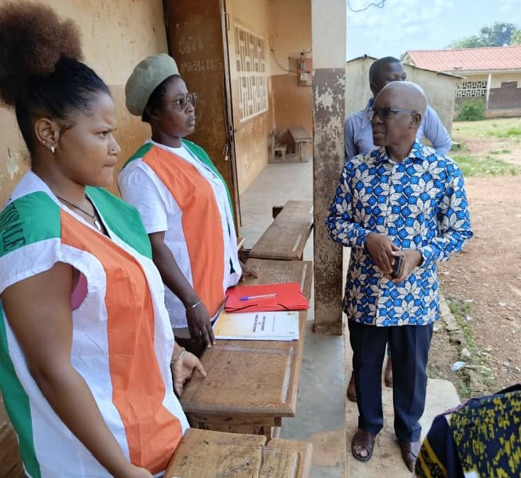
<instances>
[{"instance_id":1,"label":"weathered pillar, pale top and peeling brown below, beside patterned-shirt man","mask_svg":"<svg viewBox=\"0 0 521 478\"><path fill-rule=\"evenodd\" d=\"M324 220L344 162L345 1L311 0L315 330L342 333L342 247Z\"/></svg>"}]
</instances>

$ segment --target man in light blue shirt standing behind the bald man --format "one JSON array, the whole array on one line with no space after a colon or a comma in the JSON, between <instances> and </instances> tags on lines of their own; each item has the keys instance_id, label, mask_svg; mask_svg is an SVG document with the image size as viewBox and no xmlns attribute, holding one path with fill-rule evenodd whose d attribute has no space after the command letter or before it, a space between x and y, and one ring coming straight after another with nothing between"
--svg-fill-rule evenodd
<instances>
[{"instance_id":1,"label":"man in light blue shirt standing behind the bald man","mask_svg":"<svg viewBox=\"0 0 521 478\"><path fill-rule=\"evenodd\" d=\"M369 70L369 83L373 97L367 102L367 106L350 115L345 120L344 144L345 160L354 158L357 154L365 153L375 147L372 142L372 128L369 119L369 109L375 101L375 97L382 88L392 81L404 81L407 75L402 63L397 58L387 56L372 63ZM451 137L437 113L427 105L425 116L417 132L417 139L429 139L436 151L447 154L451 149Z\"/></svg>"}]
</instances>

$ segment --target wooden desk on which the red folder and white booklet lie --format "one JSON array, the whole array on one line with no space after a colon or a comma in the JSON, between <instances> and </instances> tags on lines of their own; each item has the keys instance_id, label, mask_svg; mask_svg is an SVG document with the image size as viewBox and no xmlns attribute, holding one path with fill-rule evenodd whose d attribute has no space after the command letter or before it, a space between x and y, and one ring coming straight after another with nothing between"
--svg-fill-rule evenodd
<instances>
[{"instance_id":1,"label":"wooden desk on which the red folder and white booklet lie","mask_svg":"<svg viewBox=\"0 0 521 478\"><path fill-rule=\"evenodd\" d=\"M309 299L312 262L248 259L259 277L247 284L300 282ZM282 417L296 414L307 311L299 313L298 341L217 340L181 395L190 425L222 432L271 436Z\"/></svg>"}]
</instances>

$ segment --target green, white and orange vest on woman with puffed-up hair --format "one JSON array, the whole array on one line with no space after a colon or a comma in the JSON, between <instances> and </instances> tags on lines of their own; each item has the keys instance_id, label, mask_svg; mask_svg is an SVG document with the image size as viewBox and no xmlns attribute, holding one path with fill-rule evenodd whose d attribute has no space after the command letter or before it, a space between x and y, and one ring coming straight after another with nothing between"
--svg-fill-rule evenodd
<instances>
[{"instance_id":1,"label":"green, white and orange vest on woman with puffed-up hair","mask_svg":"<svg viewBox=\"0 0 521 478\"><path fill-rule=\"evenodd\" d=\"M23 176L0 213L0 294L56 262L85 276L87 295L72 311L70 363L124 455L161 474L188 428L173 394L163 283L137 211L100 188L87 194L108 237L32 171ZM45 400L1 303L0 388L28 477L109 477Z\"/></svg>"}]
</instances>

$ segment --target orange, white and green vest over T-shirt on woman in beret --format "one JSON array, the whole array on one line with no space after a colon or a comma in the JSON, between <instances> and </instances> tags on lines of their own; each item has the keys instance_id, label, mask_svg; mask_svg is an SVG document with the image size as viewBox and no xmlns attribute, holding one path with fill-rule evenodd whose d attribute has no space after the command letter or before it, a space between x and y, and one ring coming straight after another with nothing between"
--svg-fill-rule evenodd
<instances>
[{"instance_id":1,"label":"orange, white and green vest over T-shirt on woman in beret","mask_svg":"<svg viewBox=\"0 0 521 478\"><path fill-rule=\"evenodd\" d=\"M123 166L118 186L147 233L165 232L183 275L216 317L242 270L230 194L208 154L186 139L182 148L146 142ZM185 307L168 287L165 300L172 326L186 327Z\"/></svg>"}]
</instances>

